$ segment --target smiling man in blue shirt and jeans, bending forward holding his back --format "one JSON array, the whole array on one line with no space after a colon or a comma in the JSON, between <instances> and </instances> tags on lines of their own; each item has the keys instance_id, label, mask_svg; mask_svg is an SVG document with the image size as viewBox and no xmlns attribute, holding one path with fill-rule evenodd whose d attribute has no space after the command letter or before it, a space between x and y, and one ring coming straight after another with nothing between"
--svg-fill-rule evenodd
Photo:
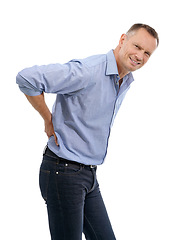
<instances>
[{"instance_id":1,"label":"smiling man in blue shirt and jeans, bending forward holding his back","mask_svg":"<svg viewBox=\"0 0 176 240\"><path fill-rule=\"evenodd\" d=\"M115 50L66 64L24 69L17 83L45 122L49 137L40 168L52 240L116 239L96 179L110 129L133 82L133 71L159 44L156 31L135 24ZM45 93L55 93L50 113Z\"/></svg>"}]
</instances>

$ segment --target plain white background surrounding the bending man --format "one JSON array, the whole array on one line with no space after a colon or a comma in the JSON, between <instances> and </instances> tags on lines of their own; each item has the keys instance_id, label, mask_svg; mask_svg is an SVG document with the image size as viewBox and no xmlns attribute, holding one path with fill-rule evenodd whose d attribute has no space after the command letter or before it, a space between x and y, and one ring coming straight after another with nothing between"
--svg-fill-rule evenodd
<instances>
[{"instance_id":1,"label":"plain white background surrounding the bending man","mask_svg":"<svg viewBox=\"0 0 176 240\"><path fill-rule=\"evenodd\" d=\"M0 238L50 239L38 171L43 120L15 83L35 64L107 53L134 23L154 27L160 45L134 73L117 115L101 191L118 240L176 240L175 2L6 0L0 4ZM55 96L46 100L52 107Z\"/></svg>"}]
</instances>

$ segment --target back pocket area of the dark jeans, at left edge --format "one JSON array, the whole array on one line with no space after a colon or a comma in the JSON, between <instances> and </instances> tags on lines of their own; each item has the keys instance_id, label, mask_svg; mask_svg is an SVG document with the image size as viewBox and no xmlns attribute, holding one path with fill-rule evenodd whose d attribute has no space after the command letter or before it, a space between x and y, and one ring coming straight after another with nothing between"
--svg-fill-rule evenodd
<instances>
[{"instance_id":1,"label":"back pocket area of the dark jeans, at left edge","mask_svg":"<svg viewBox=\"0 0 176 240\"><path fill-rule=\"evenodd\" d=\"M39 186L40 186L42 197L45 201L47 201L49 178L50 178L50 171L40 169Z\"/></svg>"}]
</instances>

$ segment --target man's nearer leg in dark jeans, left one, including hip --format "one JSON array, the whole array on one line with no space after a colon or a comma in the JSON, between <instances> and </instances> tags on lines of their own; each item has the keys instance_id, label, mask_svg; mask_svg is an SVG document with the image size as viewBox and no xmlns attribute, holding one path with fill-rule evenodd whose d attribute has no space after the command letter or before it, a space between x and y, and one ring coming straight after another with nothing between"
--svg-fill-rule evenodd
<instances>
[{"instance_id":1,"label":"man's nearer leg in dark jeans, left one, including hip","mask_svg":"<svg viewBox=\"0 0 176 240\"><path fill-rule=\"evenodd\" d=\"M80 169L44 155L40 188L47 204L52 240L81 240L85 191Z\"/></svg>"}]
</instances>

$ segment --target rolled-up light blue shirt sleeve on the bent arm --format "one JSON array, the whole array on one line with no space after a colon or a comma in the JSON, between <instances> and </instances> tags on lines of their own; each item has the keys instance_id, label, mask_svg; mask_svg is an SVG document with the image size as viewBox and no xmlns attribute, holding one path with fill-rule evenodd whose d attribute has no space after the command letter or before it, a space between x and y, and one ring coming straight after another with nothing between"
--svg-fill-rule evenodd
<instances>
[{"instance_id":1,"label":"rolled-up light blue shirt sleeve on the bent arm","mask_svg":"<svg viewBox=\"0 0 176 240\"><path fill-rule=\"evenodd\" d=\"M33 66L19 72L16 83L29 96L37 96L42 92L73 94L89 85L90 71L79 60L66 64Z\"/></svg>"}]
</instances>

